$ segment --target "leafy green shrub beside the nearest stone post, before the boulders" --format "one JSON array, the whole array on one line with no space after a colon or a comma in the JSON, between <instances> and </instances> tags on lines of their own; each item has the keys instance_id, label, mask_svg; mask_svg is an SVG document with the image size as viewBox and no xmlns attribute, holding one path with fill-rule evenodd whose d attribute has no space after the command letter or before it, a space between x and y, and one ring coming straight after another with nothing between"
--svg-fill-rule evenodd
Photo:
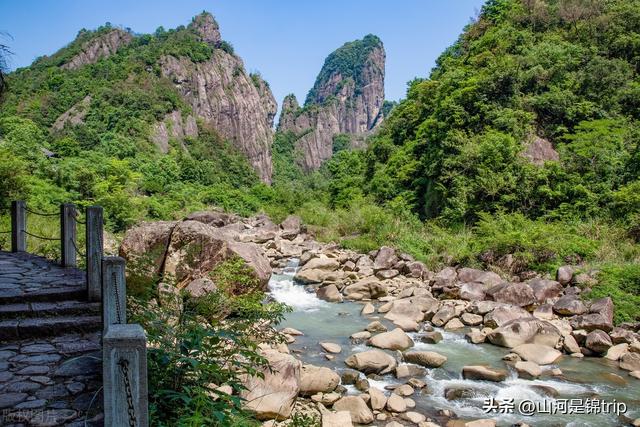
<instances>
[{"instance_id":1,"label":"leafy green shrub beside the nearest stone post, before the boulders","mask_svg":"<svg viewBox=\"0 0 640 427\"><path fill-rule=\"evenodd\" d=\"M242 408L241 378L261 376L267 360L258 343L282 337L270 325L282 320L283 304L263 303L264 293L237 260L222 263L214 276L221 288L192 299L164 295L161 304L132 301L132 321L149 342L149 412L153 425L237 426L258 423ZM246 291L242 295L233 291ZM217 390L228 385L233 394Z\"/></svg>"}]
</instances>

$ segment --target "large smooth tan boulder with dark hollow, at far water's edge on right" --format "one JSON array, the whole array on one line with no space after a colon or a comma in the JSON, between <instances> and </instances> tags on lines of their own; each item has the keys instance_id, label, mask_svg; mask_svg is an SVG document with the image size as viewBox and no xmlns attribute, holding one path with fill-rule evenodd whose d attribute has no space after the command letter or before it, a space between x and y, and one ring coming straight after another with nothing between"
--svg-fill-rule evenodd
<instances>
[{"instance_id":1,"label":"large smooth tan boulder with dark hollow, at far water's edge on right","mask_svg":"<svg viewBox=\"0 0 640 427\"><path fill-rule=\"evenodd\" d=\"M487 335L491 343L508 348L528 343L555 347L561 337L554 325L533 317L511 320Z\"/></svg>"}]
</instances>

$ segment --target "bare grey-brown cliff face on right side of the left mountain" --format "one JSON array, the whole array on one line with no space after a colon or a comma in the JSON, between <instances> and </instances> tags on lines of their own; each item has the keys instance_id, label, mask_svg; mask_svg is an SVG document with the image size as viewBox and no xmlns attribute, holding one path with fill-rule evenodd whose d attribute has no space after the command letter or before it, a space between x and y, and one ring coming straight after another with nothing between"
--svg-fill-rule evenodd
<instances>
[{"instance_id":1,"label":"bare grey-brown cliff face on right side of the left mountain","mask_svg":"<svg viewBox=\"0 0 640 427\"><path fill-rule=\"evenodd\" d=\"M200 39L219 47L218 25L209 14L189 26ZM194 113L246 154L264 182L271 181L271 144L277 104L266 82L249 75L242 60L224 49L204 62L163 55L162 76L170 79Z\"/></svg>"}]
</instances>

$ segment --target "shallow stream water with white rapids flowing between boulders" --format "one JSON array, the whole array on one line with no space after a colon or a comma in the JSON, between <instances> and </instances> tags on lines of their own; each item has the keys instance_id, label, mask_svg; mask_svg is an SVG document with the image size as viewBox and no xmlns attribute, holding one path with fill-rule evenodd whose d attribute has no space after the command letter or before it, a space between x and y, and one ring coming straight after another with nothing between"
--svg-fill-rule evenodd
<instances>
[{"instance_id":1,"label":"shallow stream water with white rapids flowing between boulders","mask_svg":"<svg viewBox=\"0 0 640 427\"><path fill-rule=\"evenodd\" d=\"M366 344L352 344L349 336L362 331L373 320L380 320L389 330L395 328L376 314L363 316L360 314L362 305L355 302L340 304L329 303L318 299L315 293L293 280L298 260L289 261L282 274L274 274L269 282L271 296L280 302L293 307L280 326L296 328L304 336L296 337L296 342L289 347L305 363L326 366L340 372L347 369L344 360L353 353L370 350ZM436 351L447 356L447 362L440 368L429 369L423 380L427 387L417 391L411 398L416 401L416 410L428 417L443 420L439 410L448 409L463 419L492 418L500 426L509 426L516 422L526 422L532 426L616 426L628 425L629 420L640 417L640 380L628 375L611 362L601 358L587 358L583 360L563 357L556 365L544 366L543 375L537 380L519 379L514 371L509 378L501 383L488 381L472 381L462 378L461 372L465 365L488 365L496 368L507 368L502 357L508 349L491 344L471 344L464 337L464 332L454 333L439 330L443 340L437 344L420 342L417 333L412 336L415 342L414 350ZM321 341L333 342L342 346L342 352L329 361L325 352L318 345ZM394 352L389 352L394 354ZM550 371L560 368L562 377L554 377ZM404 384L393 375L386 375L382 380L369 380L372 387L379 388L385 393L385 386ZM470 397L458 400L447 400L444 391L447 388L464 388L471 391ZM347 386L349 393L357 393L353 386ZM467 391L468 393L468 391ZM553 396L553 397L551 397ZM493 397L496 401L514 399L513 413L487 413L483 405ZM581 400L571 400L581 399ZM592 413L581 412L585 400L590 402L605 401L618 402L626 405L626 413L617 415L613 408L609 413L591 409ZM519 402L527 401L527 410L535 405L538 413L526 415L518 412ZM566 402L566 403L565 403ZM572 414L553 414L550 408L562 405L574 408ZM545 409L547 408L547 409ZM504 412L509 412L506 406ZM540 413L540 410L543 413ZM585 412L588 409L585 409ZM547 412L547 413L544 413ZM382 424L384 425L384 423Z\"/></svg>"}]
</instances>

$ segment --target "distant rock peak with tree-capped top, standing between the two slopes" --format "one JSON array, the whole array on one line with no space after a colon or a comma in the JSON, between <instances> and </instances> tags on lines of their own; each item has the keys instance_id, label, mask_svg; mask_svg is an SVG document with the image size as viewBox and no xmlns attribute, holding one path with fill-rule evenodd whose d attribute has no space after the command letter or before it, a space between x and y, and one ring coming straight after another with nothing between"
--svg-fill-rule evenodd
<instances>
[{"instance_id":1,"label":"distant rock peak with tree-capped top, standing between the two slopes","mask_svg":"<svg viewBox=\"0 0 640 427\"><path fill-rule=\"evenodd\" d=\"M382 42L368 35L327 57L304 107L293 95L285 98L278 129L298 136L305 170L332 156L336 135L350 134L357 141L382 122L384 66Z\"/></svg>"}]
</instances>

